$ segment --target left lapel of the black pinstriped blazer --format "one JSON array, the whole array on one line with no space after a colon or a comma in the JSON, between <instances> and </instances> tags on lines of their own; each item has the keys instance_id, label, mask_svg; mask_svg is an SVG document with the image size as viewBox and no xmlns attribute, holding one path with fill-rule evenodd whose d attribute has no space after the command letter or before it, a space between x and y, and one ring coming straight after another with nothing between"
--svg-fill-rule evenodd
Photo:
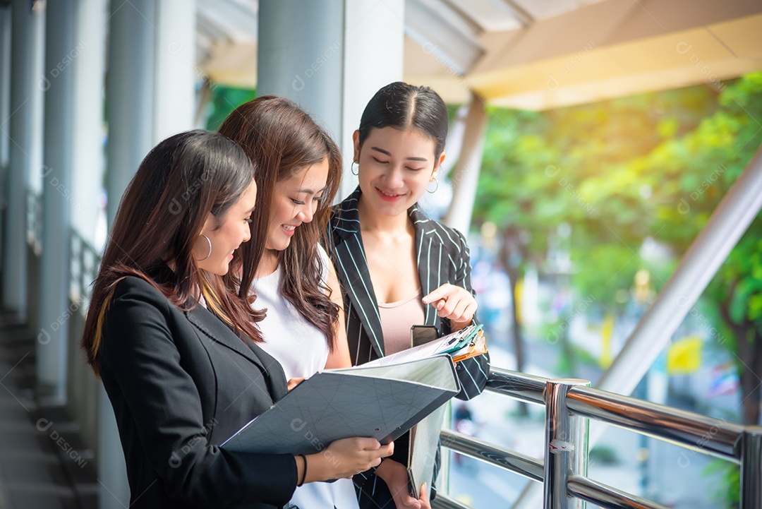
<instances>
[{"instance_id":1,"label":"left lapel of the black pinstriped blazer","mask_svg":"<svg viewBox=\"0 0 762 509\"><path fill-rule=\"evenodd\" d=\"M360 188L344 201L339 210L338 238L335 242L336 270L341 274L344 289L347 291L357 316L367 331L370 344L379 357L384 356L383 331L379 315L376 293L370 280L367 258L363 248L363 238L360 235L360 219L357 214L357 200L360 198ZM347 274L353 274L350 279Z\"/></svg>"}]
</instances>

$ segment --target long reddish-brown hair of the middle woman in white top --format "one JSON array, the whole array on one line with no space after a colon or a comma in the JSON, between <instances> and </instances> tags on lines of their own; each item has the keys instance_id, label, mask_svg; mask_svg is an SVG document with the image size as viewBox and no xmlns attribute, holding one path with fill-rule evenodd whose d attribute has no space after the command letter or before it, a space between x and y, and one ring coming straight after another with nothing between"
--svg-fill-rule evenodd
<instances>
[{"instance_id":1,"label":"long reddish-brown hair of the middle woman in white top","mask_svg":"<svg viewBox=\"0 0 762 509\"><path fill-rule=\"evenodd\" d=\"M251 238L255 242L242 245L236 251L231 271L225 277L229 288L238 287L243 299L251 293L251 282L264 253L275 184L328 158L328 181L312 222L305 222L296 229L289 247L280 251L279 263L283 264L280 293L325 334L332 351L338 306L326 296L328 289L321 282L324 267L318 256L318 244L324 241L327 245L325 232L331 203L341 181L338 146L296 104L271 95L235 108L219 126L219 133L242 146L258 168L255 176L258 214L251 222ZM236 273L241 274L240 279Z\"/></svg>"}]
</instances>

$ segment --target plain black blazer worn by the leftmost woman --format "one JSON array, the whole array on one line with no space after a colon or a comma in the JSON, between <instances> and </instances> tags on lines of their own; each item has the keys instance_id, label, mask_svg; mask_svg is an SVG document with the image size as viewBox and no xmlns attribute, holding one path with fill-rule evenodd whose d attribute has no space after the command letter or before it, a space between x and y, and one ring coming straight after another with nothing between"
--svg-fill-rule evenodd
<instances>
[{"instance_id":1,"label":"plain black blazer worn by the leftmost woman","mask_svg":"<svg viewBox=\"0 0 762 509\"><path fill-rule=\"evenodd\" d=\"M130 482L130 508L281 507L291 454L219 448L287 392L283 369L203 306L181 312L145 280L117 284L98 354Z\"/></svg>"}]
</instances>

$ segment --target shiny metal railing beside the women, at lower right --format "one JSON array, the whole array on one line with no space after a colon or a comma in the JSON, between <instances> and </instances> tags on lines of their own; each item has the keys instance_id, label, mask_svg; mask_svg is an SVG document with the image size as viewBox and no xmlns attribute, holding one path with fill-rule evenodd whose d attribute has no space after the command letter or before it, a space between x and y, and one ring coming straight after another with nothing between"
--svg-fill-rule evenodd
<instances>
[{"instance_id":1,"label":"shiny metal railing beside the women, at lower right","mask_svg":"<svg viewBox=\"0 0 762 509\"><path fill-rule=\"evenodd\" d=\"M545 424L546 439L559 429L568 427L572 422L569 418L586 418L740 463L741 509L762 507L762 427L744 427L583 384L584 381L579 380L554 380L491 368L486 390L511 399L546 405L549 409ZM553 395L549 398L551 401L546 402L547 394ZM565 440L568 442L565 442L565 447L568 446L569 452L576 448L577 452L567 456L566 463L561 464L563 468L559 468L558 444L554 446L549 440L546 440L549 442L546 459L552 459L550 462L450 430L443 430L440 438L442 445L450 450L542 482L546 489L545 509L580 507L579 501L609 509L667 509L661 504L588 479L586 435L566 434ZM580 458L584 461L582 466L578 464ZM434 507L468 509L465 504L441 494L434 500Z\"/></svg>"}]
</instances>

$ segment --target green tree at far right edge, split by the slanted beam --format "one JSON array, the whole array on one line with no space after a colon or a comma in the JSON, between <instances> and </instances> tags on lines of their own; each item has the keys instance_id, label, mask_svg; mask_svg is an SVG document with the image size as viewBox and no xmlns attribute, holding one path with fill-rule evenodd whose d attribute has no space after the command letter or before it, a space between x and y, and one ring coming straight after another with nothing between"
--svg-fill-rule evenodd
<instances>
[{"instance_id":1,"label":"green tree at far right edge, split by the slanted beam","mask_svg":"<svg viewBox=\"0 0 762 509\"><path fill-rule=\"evenodd\" d=\"M762 73L727 85L718 102L719 108L695 130L665 140L647 158L664 171L665 185L652 229L661 229L661 241L676 255L684 253L762 143ZM741 379L742 421L757 424L762 379L762 216L732 249L703 299L718 330L728 332L713 339L734 356Z\"/></svg>"}]
</instances>

